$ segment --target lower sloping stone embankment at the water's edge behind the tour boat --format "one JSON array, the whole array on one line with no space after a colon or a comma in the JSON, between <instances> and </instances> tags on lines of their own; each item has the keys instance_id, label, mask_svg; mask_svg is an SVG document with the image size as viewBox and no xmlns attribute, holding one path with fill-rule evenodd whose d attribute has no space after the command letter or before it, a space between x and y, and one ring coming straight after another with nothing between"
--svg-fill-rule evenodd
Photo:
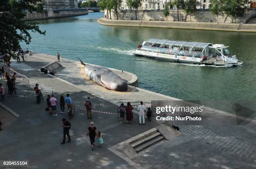
<instances>
[{"instance_id":1,"label":"lower sloping stone embankment at the water's edge behind the tour boat","mask_svg":"<svg viewBox=\"0 0 256 169\"><path fill-rule=\"evenodd\" d=\"M136 26L136 27L164 27L198 30L226 30L241 32L256 32L256 24L239 23L210 23L210 22L177 22L177 21L148 21L148 20L110 20L101 18L98 23L112 26Z\"/></svg>"}]
</instances>

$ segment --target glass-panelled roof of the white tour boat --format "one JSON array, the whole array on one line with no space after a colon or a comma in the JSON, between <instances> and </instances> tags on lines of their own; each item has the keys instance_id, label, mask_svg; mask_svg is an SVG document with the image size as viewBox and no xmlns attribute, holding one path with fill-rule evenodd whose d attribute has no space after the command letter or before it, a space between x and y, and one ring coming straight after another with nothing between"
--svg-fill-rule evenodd
<instances>
[{"instance_id":1,"label":"glass-panelled roof of the white tour boat","mask_svg":"<svg viewBox=\"0 0 256 169\"><path fill-rule=\"evenodd\" d=\"M185 46L185 47L200 47L200 48L205 48L208 45L212 45L211 43L188 42L188 41L178 41L178 40L162 40L162 39L149 39L146 42L165 44L165 45Z\"/></svg>"}]
</instances>

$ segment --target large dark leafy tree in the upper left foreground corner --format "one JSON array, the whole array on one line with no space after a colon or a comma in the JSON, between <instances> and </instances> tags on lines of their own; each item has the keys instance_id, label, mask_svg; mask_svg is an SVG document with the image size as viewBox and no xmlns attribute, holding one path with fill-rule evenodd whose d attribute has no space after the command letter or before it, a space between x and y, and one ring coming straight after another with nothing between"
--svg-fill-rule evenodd
<instances>
[{"instance_id":1,"label":"large dark leafy tree in the upper left foreground corner","mask_svg":"<svg viewBox=\"0 0 256 169\"><path fill-rule=\"evenodd\" d=\"M45 35L36 22L24 22L21 19L29 12L42 12L43 0L0 0L0 53L16 57L21 50L20 42L31 42L31 32Z\"/></svg>"}]
</instances>

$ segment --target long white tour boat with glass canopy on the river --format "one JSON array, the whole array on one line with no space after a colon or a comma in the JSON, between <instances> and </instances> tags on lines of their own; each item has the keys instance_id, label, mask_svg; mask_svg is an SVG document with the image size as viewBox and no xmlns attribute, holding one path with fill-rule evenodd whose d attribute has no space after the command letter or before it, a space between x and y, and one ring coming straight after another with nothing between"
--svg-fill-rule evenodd
<instances>
[{"instance_id":1,"label":"long white tour boat with glass canopy on the river","mask_svg":"<svg viewBox=\"0 0 256 169\"><path fill-rule=\"evenodd\" d=\"M153 59L204 65L242 65L231 55L228 46L221 44L149 39L138 45L134 55Z\"/></svg>"}]
</instances>

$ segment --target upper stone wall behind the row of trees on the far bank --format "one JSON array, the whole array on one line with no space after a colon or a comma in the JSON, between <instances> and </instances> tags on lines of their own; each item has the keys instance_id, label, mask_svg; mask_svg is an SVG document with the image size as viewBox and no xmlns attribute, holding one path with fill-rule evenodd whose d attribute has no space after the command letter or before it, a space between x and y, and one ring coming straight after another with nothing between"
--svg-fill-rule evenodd
<instances>
[{"instance_id":1,"label":"upper stone wall behind the row of trees on the far bank","mask_svg":"<svg viewBox=\"0 0 256 169\"><path fill-rule=\"evenodd\" d=\"M107 15L107 11L105 11ZM168 21L177 21L177 10L170 10L170 15L167 17ZM243 17L236 18L233 20L233 23L246 23L252 17L256 16L256 10L248 10ZM110 16L109 16L110 17ZM111 12L112 19L116 19L115 11ZM119 11L118 19L125 20L135 20L135 11ZM138 20L166 20L163 14L163 10L138 10L137 11ZM183 10L179 10L179 21L185 19L190 21L190 15L187 15ZM217 22L217 17L213 15L209 10L199 10L195 12L194 15L191 15L191 22ZM218 21L220 23L232 23L232 17L227 17L225 15L219 16ZM256 22L255 22L256 23Z\"/></svg>"}]
</instances>

